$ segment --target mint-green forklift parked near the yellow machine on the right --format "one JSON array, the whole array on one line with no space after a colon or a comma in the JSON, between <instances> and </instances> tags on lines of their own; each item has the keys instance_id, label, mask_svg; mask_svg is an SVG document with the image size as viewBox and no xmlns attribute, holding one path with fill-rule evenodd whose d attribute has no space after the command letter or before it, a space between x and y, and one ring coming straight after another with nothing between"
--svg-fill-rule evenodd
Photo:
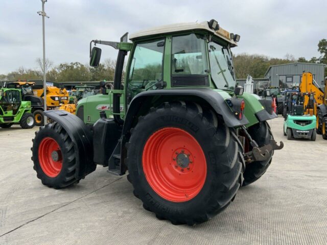
<instances>
[{"instance_id":1,"label":"mint-green forklift parked near the yellow machine on the right","mask_svg":"<svg viewBox=\"0 0 327 245\"><path fill-rule=\"evenodd\" d=\"M309 103L305 104L305 98ZM314 96L312 93L288 91L286 93L284 114L284 135L294 138L316 140L316 116L314 115Z\"/></svg>"}]
</instances>

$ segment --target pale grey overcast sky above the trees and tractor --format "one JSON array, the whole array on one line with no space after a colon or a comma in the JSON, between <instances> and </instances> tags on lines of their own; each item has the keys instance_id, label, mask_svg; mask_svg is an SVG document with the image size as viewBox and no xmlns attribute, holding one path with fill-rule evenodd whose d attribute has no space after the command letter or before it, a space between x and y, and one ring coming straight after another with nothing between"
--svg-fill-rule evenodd
<instances>
[{"instance_id":1,"label":"pale grey overcast sky above the trees and tractor","mask_svg":"<svg viewBox=\"0 0 327 245\"><path fill-rule=\"evenodd\" d=\"M42 57L40 0L0 2L0 74L19 66L36 68ZM162 24L218 20L229 32L241 35L233 53L284 58L319 56L318 41L327 38L326 0L48 0L46 57L88 63L92 39L119 41L125 33ZM105 58L116 51L104 47Z\"/></svg>"}]
</instances>

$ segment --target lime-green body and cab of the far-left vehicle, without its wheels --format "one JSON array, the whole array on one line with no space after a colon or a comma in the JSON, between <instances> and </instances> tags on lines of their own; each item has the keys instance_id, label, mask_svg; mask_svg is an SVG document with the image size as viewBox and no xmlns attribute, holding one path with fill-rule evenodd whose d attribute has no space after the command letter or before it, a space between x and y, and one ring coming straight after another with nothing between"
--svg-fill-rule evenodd
<instances>
[{"instance_id":1,"label":"lime-green body and cab of the far-left vehicle, without its wheels","mask_svg":"<svg viewBox=\"0 0 327 245\"><path fill-rule=\"evenodd\" d=\"M10 91L15 91L16 102L9 102L8 98L4 97L4 94ZM31 102L21 101L21 93L19 89L0 89L0 124L18 123L24 113L31 113ZM7 120L4 120L6 119ZM8 120L11 117L11 120Z\"/></svg>"}]
</instances>

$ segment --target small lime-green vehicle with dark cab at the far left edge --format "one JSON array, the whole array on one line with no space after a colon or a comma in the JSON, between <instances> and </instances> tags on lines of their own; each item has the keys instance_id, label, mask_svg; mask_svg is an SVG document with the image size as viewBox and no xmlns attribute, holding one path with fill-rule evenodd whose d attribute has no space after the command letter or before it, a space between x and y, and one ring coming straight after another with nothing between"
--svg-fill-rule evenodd
<instances>
[{"instance_id":1,"label":"small lime-green vehicle with dark cab at the far left edge","mask_svg":"<svg viewBox=\"0 0 327 245\"><path fill-rule=\"evenodd\" d=\"M20 124L23 129L31 129L35 125L31 113L31 102L21 101L19 89L0 88L0 127L10 128Z\"/></svg>"}]
</instances>

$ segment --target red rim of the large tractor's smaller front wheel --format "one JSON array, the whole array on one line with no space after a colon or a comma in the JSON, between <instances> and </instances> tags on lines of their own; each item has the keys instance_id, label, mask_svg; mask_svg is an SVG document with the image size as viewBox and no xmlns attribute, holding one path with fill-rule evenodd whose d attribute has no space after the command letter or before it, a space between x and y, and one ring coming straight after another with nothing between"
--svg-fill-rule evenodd
<instances>
[{"instance_id":1,"label":"red rim of the large tractor's smaller front wheel","mask_svg":"<svg viewBox=\"0 0 327 245\"><path fill-rule=\"evenodd\" d=\"M56 140L50 137L42 139L38 157L44 174L52 178L59 175L62 168L62 154Z\"/></svg>"}]
</instances>

